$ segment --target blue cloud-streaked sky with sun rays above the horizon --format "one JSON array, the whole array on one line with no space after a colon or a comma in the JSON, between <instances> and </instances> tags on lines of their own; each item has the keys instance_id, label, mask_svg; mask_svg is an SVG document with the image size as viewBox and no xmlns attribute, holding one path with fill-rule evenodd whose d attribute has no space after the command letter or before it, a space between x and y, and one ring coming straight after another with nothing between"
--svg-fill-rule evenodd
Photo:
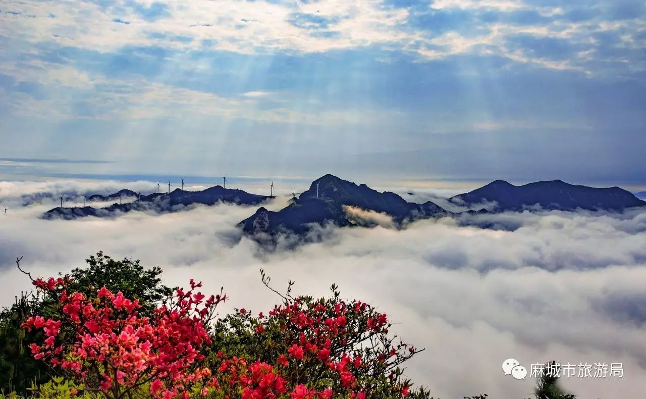
<instances>
[{"instance_id":1,"label":"blue cloud-streaked sky with sun rays above the horizon","mask_svg":"<svg viewBox=\"0 0 646 399\"><path fill-rule=\"evenodd\" d=\"M2 178L646 188L643 1L0 1L0 49Z\"/></svg>"}]
</instances>

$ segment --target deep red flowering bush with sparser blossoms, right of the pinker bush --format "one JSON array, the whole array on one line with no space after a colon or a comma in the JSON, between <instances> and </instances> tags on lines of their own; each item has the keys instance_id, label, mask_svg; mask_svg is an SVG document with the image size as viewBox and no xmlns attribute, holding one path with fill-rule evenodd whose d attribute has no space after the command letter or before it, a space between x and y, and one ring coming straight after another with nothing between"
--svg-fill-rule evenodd
<instances>
[{"instance_id":1,"label":"deep red flowering bush with sparser blossoms, right of the pinker bush","mask_svg":"<svg viewBox=\"0 0 646 399\"><path fill-rule=\"evenodd\" d=\"M386 314L361 301L344 301L335 292L331 299L287 296L257 317L240 309L216 329L243 340L246 352L229 354L273 365L292 397L392 398L408 394L410 382L401 380L398 365L419 350L395 343L388 336L390 327Z\"/></svg>"}]
</instances>

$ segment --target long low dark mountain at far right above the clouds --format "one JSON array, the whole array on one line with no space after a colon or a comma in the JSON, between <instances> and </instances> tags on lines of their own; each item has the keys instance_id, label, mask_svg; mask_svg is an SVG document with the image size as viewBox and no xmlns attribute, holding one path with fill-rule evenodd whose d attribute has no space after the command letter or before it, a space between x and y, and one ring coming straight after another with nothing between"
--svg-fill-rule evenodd
<instances>
[{"instance_id":1,"label":"long low dark mountain at far right above the clouds","mask_svg":"<svg viewBox=\"0 0 646 399\"><path fill-rule=\"evenodd\" d=\"M456 195L450 200L455 204L468 206L495 202L495 211L522 211L533 206L564 211L623 211L633 206L646 205L646 202L625 189L574 186L561 180L535 182L524 186L495 180L469 193Z\"/></svg>"}]
</instances>

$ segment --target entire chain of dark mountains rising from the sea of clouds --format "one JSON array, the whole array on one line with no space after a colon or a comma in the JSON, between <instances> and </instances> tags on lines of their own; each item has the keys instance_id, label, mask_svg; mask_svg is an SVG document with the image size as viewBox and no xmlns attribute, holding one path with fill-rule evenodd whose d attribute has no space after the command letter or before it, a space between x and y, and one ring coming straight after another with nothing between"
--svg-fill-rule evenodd
<instances>
[{"instance_id":1,"label":"entire chain of dark mountains rising from the sea of clouds","mask_svg":"<svg viewBox=\"0 0 646 399\"><path fill-rule=\"evenodd\" d=\"M226 202L241 205L258 205L271 199L263 195L250 194L240 189L214 186L202 191L175 189L170 193L153 193L139 197L130 190L121 190L107 196L90 196L98 200L116 200L120 197L135 197L134 202L112 204L104 208L91 206L76 208L54 208L47 211L44 219L76 219L78 217L114 217L119 213L138 210L152 210L167 213L181 210L190 204L213 205ZM645 206L646 202L632 193L618 187L591 188L575 186L561 180L534 182L514 186L505 180L495 180L486 186L448 199L457 206L477 209L482 204L495 204L490 211L533 210L536 206L545 210L603 210L623 211L634 206ZM379 192L366 184L355 184L333 175L324 175L314 180L309 189L295 196L290 204L279 211L264 207L241 221L238 226L251 235L280 232L304 234L312 226L332 223L336 226L374 226L377 219L391 221L400 228L409 221L439 217L456 217L461 214L482 214L488 211L466 211L453 213L434 202L423 204L408 202L390 191Z\"/></svg>"}]
</instances>

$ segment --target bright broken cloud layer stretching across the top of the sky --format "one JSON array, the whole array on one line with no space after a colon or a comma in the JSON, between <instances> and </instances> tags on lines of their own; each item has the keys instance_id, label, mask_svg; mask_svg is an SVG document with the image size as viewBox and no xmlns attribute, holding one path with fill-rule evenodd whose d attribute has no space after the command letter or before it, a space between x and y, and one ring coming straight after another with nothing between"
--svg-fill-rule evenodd
<instances>
[{"instance_id":1,"label":"bright broken cloud layer stretching across the top of the sky","mask_svg":"<svg viewBox=\"0 0 646 399\"><path fill-rule=\"evenodd\" d=\"M112 52L158 46L256 54L382 47L424 59L498 54L550 69L598 71L612 49L643 49L643 4L623 1L210 1L190 4L68 0L3 4L3 36ZM34 22L37 21L37 23ZM34 29L34 26L37 28ZM590 40L621 31L619 43ZM522 45L518 45L521 42ZM548 47L554 49L548 50ZM572 57L574 56L574 57ZM643 61L643 59L642 59ZM643 69L643 64L632 65Z\"/></svg>"}]
</instances>

